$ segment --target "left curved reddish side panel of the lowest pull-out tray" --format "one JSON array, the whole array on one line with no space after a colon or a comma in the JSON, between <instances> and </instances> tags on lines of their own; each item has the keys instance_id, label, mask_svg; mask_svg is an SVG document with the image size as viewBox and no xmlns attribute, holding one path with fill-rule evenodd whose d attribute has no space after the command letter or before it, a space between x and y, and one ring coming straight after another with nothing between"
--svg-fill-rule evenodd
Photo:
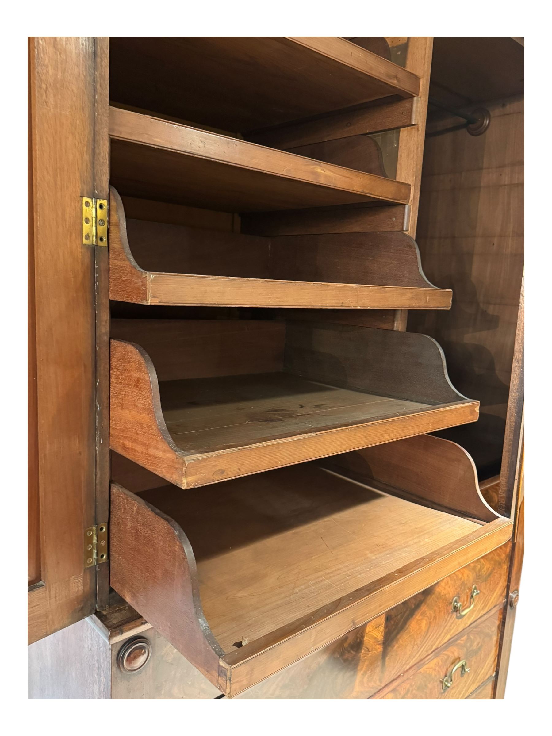
<instances>
[{"instance_id":1,"label":"left curved reddish side panel of the lowest pull-out tray","mask_svg":"<svg viewBox=\"0 0 552 736\"><path fill-rule=\"evenodd\" d=\"M112 484L110 529L112 587L224 692L224 650L203 613L196 560L182 528Z\"/></svg>"}]
</instances>

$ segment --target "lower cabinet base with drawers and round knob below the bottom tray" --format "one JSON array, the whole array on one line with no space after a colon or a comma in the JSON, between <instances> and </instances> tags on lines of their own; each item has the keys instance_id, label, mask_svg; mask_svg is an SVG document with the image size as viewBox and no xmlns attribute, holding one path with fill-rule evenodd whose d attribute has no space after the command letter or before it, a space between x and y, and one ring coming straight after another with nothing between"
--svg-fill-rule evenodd
<instances>
[{"instance_id":1,"label":"lower cabinet base with drawers and round knob below the bottom tray","mask_svg":"<svg viewBox=\"0 0 552 736\"><path fill-rule=\"evenodd\" d=\"M461 678L473 697L483 697L479 684L484 667L478 667L473 654L478 654L478 644L484 637L484 652L490 653L493 666L498 645L497 620L503 610L506 596L506 562L509 559L510 543L480 557L456 573L447 576L434 586L414 595L387 612L373 618L369 623L349 631L322 648L302 657L262 682L236 695L238 699L302 699L302 698L380 698L390 697L395 689L411 687L414 673L431 665L428 670L428 690L418 685L417 697L441 696L442 679L447 675L447 663L456 664L455 654L461 650L470 668L470 679ZM476 603L464 616L453 611L452 601L459 597L465 607L469 604L470 591L476 585L480 591ZM472 633L473 631L473 633ZM96 642L91 651L96 651L93 662L95 675L91 682L83 683L78 678L66 679L63 697L101 698L216 698L219 689L194 668L172 646L159 631L139 617L130 606L113 604L108 614L98 613L86 622L74 627L70 634L60 632L63 645L54 645L55 638L44 640L40 645L47 648L49 657L79 657L82 648L91 640ZM145 640L145 642L144 642ZM450 642L454 644L451 645ZM138 670L125 669L121 659L130 643L145 646L151 654L146 665ZM39 645L39 646L40 646ZM451 648L453 646L453 648ZM32 665L40 667L41 658L32 651ZM441 652L444 653L440 654ZM495 659L492 659L494 652ZM433 663L439 653L439 662ZM489 657L484 654L484 666ZM479 656L479 654L478 654ZM447 659L448 657L448 659ZM461 660L460 660L461 661ZM472 664L474 666L472 666ZM61 662L60 662L61 666ZM440 670L439 670L440 667ZM432 669L433 668L433 669ZM486 679L486 686L494 689L495 670ZM99 686L104 690L99 690ZM459 693L457 678L454 687L443 691L443 697L455 698ZM33 687L35 696L46 696L55 692L51 683L37 680ZM50 688L52 690L50 690ZM465 697L464 695L461 697ZM397 697L397 693L392 695ZM471 695L470 695L471 697ZM489 697L489 696L486 696Z\"/></svg>"}]
</instances>

